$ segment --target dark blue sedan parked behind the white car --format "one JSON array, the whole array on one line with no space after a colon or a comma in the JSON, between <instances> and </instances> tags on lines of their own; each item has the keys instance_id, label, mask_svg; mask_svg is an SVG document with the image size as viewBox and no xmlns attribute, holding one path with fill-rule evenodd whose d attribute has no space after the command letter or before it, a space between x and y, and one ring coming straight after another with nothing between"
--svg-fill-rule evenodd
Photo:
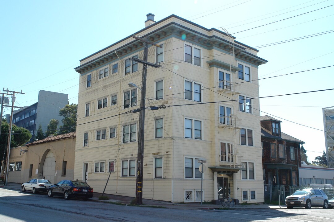
<instances>
[{"instance_id":1,"label":"dark blue sedan parked behind the white car","mask_svg":"<svg viewBox=\"0 0 334 222\"><path fill-rule=\"evenodd\" d=\"M79 180L62 180L57 184L50 186L47 190L47 196L53 195L63 196L65 200L71 197L79 197L83 200L88 200L93 197L93 188L87 183Z\"/></svg>"}]
</instances>

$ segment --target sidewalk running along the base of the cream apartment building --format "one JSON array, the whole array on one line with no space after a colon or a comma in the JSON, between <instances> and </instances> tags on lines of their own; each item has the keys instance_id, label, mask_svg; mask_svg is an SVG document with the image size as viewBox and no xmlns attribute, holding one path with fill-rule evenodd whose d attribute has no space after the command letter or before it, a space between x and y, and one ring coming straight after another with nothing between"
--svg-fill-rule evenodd
<instances>
[{"instance_id":1,"label":"sidewalk running along the base of the cream apartment building","mask_svg":"<svg viewBox=\"0 0 334 222\"><path fill-rule=\"evenodd\" d=\"M21 184L20 183L11 183L8 182L7 186L4 186L2 181L0 181L0 188L2 189L9 189L9 190L21 190ZM105 196L109 197L109 200L99 200L99 196L101 196L102 193L96 193L94 192L94 197L90 200L92 201L99 201L99 202L113 202L116 204L130 204L131 201L134 199L134 197L127 197L127 196L119 196L114 194L105 194ZM143 199L143 205L144 206L155 206L155 207L164 207L164 208L170 208L170 209L187 209L187 210L213 210L213 209L222 209L222 206L220 204L214 205L214 204L202 204L202 207L200 203L171 203L168 201L162 201L162 200L150 200L150 199ZM272 205L272 204L238 204L234 205L233 208L235 210L249 210L249 209L284 209L286 206L278 206L278 205Z\"/></svg>"}]
</instances>

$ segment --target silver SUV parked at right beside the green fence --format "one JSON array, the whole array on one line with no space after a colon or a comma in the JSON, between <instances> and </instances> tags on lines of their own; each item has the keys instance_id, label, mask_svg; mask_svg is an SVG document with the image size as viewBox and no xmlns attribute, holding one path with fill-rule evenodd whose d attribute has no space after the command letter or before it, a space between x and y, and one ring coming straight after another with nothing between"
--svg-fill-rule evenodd
<instances>
[{"instance_id":1,"label":"silver SUV parked at right beside the green fence","mask_svg":"<svg viewBox=\"0 0 334 222\"><path fill-rule=\"evenodd\" d=\"M320 189L296 190L291 196L285 198L285 204L288 209L301 206L305 209L311 209L311 206L328 209L328 197Z\"/></svg>"}]
</instances>

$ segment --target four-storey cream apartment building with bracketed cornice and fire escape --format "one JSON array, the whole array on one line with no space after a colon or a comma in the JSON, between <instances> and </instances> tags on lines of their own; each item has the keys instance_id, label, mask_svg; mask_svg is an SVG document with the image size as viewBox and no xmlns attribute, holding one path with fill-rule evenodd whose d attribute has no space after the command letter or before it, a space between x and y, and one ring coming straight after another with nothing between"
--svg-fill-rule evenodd
<instances>
[{"instance_id":1,"label":"four-storey cream apartment building with bracketed cornice and fire escape","mask_svg":"<svg viewBox=\"0 0 334 222\"><path fill-rule=\"evenodd\" d=\"M144 24L143 24L144 25ZM263 202L258 50L220 30L148 14L143 198ZM74 178L135 196L143 43L128 36L82 60ZM139 88L130 87L129 83ZM150 110L158 107L158 110ZM220 193L218 191L220 190Z\"/></svg>"}]
</instances>

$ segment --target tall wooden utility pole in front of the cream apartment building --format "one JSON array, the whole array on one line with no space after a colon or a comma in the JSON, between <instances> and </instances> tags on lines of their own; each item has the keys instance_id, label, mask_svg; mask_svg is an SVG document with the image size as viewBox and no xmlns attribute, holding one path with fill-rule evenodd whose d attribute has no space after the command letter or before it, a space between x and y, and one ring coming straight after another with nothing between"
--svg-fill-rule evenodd
<instances>
[{"instance_id":1,"label":"tall wooden utility pole in front of the cream apartment building","mask_svg":"<svg viewBox=\"0 0 334 222\"><path fill-rule=\"evenodd\" d=\"M140 113L139 113L139 132L138 132L138 154L137 154L137 177L136 177L136 199L137 205L143 204L143 161L144 161L144 125L145 125L145 98L146 98L146 74L147 66L159 68L160 65L147 62L148 44L162 48L158 44L151 43L147 39L142 39L135 35L132 36L144 42L144 58L139 60L137 58L130 58L130 60L143 64L143 76L142 76L142 93L140 99Z\"/></svg>"}]
</instances>

